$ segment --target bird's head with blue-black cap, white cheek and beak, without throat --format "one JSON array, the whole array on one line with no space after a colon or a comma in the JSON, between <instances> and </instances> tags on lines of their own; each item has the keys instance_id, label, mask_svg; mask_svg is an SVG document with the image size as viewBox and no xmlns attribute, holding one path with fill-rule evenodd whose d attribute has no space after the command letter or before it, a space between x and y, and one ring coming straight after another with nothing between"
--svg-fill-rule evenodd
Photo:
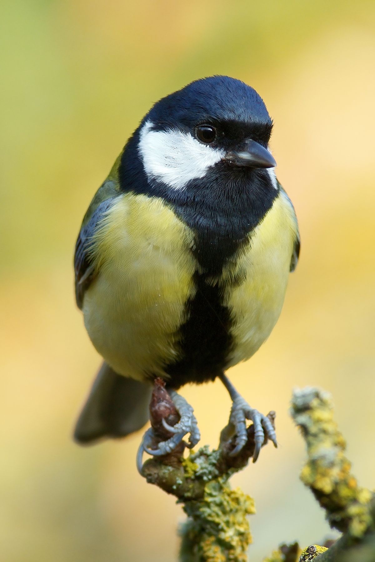
<instances>
[{"instance_id":1,"label":"bird's head with blue-black cap, white cheek and beak, without throat","mask_svg":"<svg viewBox=\"0 0 375 562\"><path fill-rule=\"evenodd\" d=\"M137 150L148 179L173 190L213 170L231 177L263 170L276 187L271 131L272 120L253 88L211 76L157 102L141 123Z\"/></svg>"}]
</instances>

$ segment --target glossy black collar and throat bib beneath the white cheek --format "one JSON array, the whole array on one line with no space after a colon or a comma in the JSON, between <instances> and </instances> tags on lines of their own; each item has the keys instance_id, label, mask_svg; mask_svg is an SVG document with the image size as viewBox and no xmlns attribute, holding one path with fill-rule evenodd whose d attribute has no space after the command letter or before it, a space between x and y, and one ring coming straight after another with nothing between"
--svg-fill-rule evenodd
<instances>
[{"instance_id":1,"label":"glossy black collar and throat bib beneath the white cheek","mask_svg":"<svg viewBox=\"0 0 375 562\"><path fill-rule=\"evenodd\" d=\"M148 179L138 154L138 131L129 139L119 167L124 192L161 197L195 233L192 248L201 267L219 274L225 262L251 237L272 207L278 189L267 170L231 167L219 162L204 178L183 189Z\"/></svg>"}]
</instances>

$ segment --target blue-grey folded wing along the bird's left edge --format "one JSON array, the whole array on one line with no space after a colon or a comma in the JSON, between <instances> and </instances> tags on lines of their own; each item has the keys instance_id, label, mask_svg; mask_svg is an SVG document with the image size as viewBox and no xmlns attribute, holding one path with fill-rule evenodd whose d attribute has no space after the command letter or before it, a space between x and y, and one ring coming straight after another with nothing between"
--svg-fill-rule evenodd
<instances>
[{"instance_id":1,"label":"blue-grey folded wing along the bird's left edge","mask_svg":"<svg viewBox=\"0 0 375 562\"><path fill-rule=\"evenodd\" d=\"M74 252L75 300L79 309L82 309L84 292L97 273L89 252L90 242L103 214L114 204L118 195L116 182L107 179L96 192L84 216Z\"/></svg>"}]
</instances>

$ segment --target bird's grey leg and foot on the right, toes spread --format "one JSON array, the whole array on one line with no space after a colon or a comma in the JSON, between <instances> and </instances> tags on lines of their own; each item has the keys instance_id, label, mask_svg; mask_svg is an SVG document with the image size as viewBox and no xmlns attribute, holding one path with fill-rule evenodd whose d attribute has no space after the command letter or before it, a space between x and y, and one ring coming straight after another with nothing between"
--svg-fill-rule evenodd
<instances>
[{"instance_id":1,"label":"bird's grey leg and foot on the right, toes spread","mask_svg":"<svg viewBox=\"0 0 375 562\"><path fill-rule=\"evenodd\" d=\"M259 456L260 448L263 445L265 435L270 439L274 446L277 447L275 430L272 424L265 415L261 414L259 411L251 408L247 404L246 400L242 398L240 393L234 388L231 381L222 373L219 375L220 380L224 384L225 388L229 392L229 396L232 398L233 404L231 409L231 415L229 415L229 425L232 426L234 433L236 434L236 447L231 451L231 456L238 455L243 446L247 441L246 433L246 420L251 420L254 423L254 439L255 439L255 450L252 456L252 462L255 463L257 457Z\"/></svg>"}]
</instances>

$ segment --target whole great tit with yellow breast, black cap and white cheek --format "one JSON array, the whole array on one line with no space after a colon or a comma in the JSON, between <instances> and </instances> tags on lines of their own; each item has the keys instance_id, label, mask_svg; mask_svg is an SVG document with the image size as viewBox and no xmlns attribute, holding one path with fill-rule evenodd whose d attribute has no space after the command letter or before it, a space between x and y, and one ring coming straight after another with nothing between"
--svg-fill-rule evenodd
<instances>
[{"instance_id":1,"label":"whole great tit with yellow breast, black cap and white cheek","mask_svg":"<svg viewBox=\"0 0 375 562\"><path fill-rule=\"evenodd\" d=\"M237 455L254 423L255 451L268 418L225 371L269 337L300 252L290 198L269 148L273 121L254 88L229 76L193 81L143 117L84 215L75 246L75 296L103 357L76 422L80 444L124 437L148 421L156 378L179 414L154 448L162 456L188 436L200 441L187 383L220 379L232 399Z\"/></svg>"}]
</instances>

